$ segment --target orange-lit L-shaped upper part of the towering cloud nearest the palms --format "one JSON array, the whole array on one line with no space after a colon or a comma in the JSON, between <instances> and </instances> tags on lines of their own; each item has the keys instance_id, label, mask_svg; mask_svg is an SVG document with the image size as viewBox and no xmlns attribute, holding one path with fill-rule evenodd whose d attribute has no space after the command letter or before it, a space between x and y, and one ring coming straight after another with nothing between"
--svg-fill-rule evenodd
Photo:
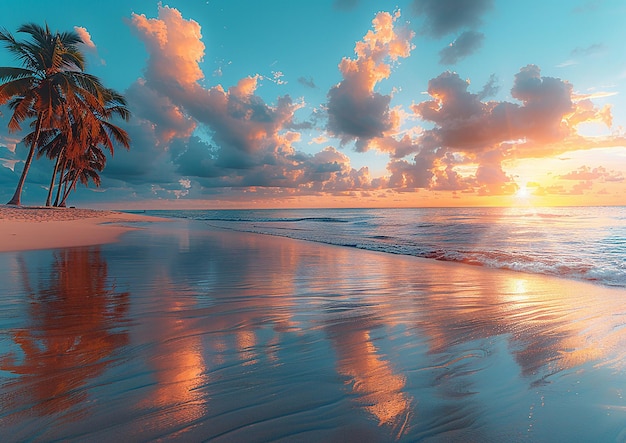
<instances>
[{"instance_id":1,"label":"orange-lit L-shaped upper part of the towering cloud nearest the palms","mask_svg":"<svg viewBox=\"0 0 626 443\"><path fill-rule=\"evenodd\" d=\"M222 148L224 162L236 166L241 153L280 149L284 143L280 132L293 123L301 103L283 96L276 105L266 104L255 94L258 75L243 78L228 89L201 86L204 75L199 63L204 44L200 27L175 9L159 7L158 19L134 15L132 24L149 52L146 86L204 124Z\"/></svg>"}]
</instances>

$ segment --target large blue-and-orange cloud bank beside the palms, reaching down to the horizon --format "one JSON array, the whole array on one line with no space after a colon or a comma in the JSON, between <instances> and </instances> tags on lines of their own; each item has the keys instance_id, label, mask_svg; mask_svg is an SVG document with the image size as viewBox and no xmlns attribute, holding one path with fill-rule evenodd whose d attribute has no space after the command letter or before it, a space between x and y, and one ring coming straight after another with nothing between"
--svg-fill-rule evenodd
<instances>
[{"instance_id":1,"label":"large blue-and-orange cloud bank beside the palms, reaching down to the horizon","mask_svg":"<svg viewBox=\"0 0 626 443\"><path fill-rule=\"evenodd\" d=\"M302 100L285 95L267 103L257 94L260 75L228 88L201 84L205 47L195 21L160 6L157 18L134 14L131 26L146 45L148 61L144 77L127 91L136 108L129 129L133 149L107 168L110 180L129 177L150 183L140 187L144 192L176 198L197 198L223 187L305 194L372 188L367 168L355 170L334 148L315 155L294 148L298 131L310 127L294 118ZM396 57L401 48L392 40L391 47L380 49L371 37L363 43L369 47L359 51L378 57L374 54L385 50ZM282 73L276 74L269 80L281 80ZM300 82L315 86L312 79Z\"/></svg>"}]
</instances>

